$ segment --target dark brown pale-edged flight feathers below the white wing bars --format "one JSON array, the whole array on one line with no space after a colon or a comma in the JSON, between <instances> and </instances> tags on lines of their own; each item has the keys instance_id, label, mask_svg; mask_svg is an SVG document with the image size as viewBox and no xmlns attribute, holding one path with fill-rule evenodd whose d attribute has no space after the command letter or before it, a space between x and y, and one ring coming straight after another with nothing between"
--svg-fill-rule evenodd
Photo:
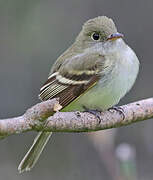
<instances>
[{"instance_id":1,"label":"dark brown pale-edged flight feathers below the white wing bars","mask_svg":"<svg viewBox=\"0 0 153 180\"><path fill-rule=\"evenodd\" d=\"M67 78L63 78L67 79ZM79 79L81 79L79 81ZM39 98L42 101L52 99L52 98L59 98L59 103L64 108L69 103L71 103L76 98L80 97L85 91L87 91L90 87L94 86L96 82L99 80L99 76L91 75L88 78L86 77L86 82L82 80L83 78L79 76L79 79L75 78L76 81L79 81L78 84L70 84L70 81L61 82L59 81L56 76L51 77L47 80L47 82L42 86ZM82 81L82 83L80 83ZM67 82L67 84L66 84Z\"/></svg>"}]
</instances>

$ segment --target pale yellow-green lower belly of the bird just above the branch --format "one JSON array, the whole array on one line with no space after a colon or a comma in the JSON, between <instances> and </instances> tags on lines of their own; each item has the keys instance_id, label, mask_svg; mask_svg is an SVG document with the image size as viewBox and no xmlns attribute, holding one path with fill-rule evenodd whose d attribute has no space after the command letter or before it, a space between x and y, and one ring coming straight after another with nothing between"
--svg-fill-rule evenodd
<instances>
[{"instance_id":1,"label":"pale yellow-green lower belly of the bird just above the branch","mask_svg":"<svg viewBox=\"0 0 153 180\"><path fill-rule=\"evenodd\" d=\"M114 88L113 84L102 87L98 83L76 101L64 108L63 111L83 111L83 106L89 109L106 110L117 104L120 98L124 96L123 93L126 93L120 92L119 88Z\"/></svg>"}]
</instances>

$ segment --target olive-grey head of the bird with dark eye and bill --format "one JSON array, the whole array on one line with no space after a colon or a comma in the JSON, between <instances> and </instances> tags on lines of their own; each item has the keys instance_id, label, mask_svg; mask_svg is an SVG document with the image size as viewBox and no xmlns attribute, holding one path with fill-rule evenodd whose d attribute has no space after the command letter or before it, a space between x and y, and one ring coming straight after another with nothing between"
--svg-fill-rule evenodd
<instances>
[{"instance_id":1,"label":"olive-grey head of the bird with dark eye and bill","mask_svg":"<svg viewBox=\"0 0 153 180\"><path fill-rule=\"evenodd\" d=\"M84 46L89 46L96 43L113 43L120 38L123 38L123 34L117 32L113 20L99 16L85 22L76 40Z\"/></svg>"}]
</instances>

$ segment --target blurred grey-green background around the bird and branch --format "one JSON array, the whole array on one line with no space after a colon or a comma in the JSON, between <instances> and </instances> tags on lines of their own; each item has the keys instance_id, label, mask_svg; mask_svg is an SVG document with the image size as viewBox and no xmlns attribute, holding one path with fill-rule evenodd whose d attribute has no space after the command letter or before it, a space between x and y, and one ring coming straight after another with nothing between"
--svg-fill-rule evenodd
<instances>
[{"instance_id":1,"label":"blurred grey-green background around the bird and branch","mask_svg":"<svg viewBox=\"0 0 153 180\"><path fill-rule=\"evenodd\" d=\"M0 118L39 100L52 63L89 18L112 17L140 62L134 88L120 104L153 95L152 0L0 0ZM17 166L36 133L0 141L0 179L152 180L153 121L98 133L56 133L28 173Z\"/></svg>"}]
</instances>

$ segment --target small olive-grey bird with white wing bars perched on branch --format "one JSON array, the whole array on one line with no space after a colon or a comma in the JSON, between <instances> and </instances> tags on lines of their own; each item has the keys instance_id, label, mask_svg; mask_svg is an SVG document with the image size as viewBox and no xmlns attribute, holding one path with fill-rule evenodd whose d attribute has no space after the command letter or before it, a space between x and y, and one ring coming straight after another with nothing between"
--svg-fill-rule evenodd
<instances>
[{"instance_id":1,"label":"small olive-grey bird with white wing bars perched on branch","mask_svg":"<svg viewBox=\"0 0 153 180\"><path fill-rule=\"evenodd\" d=\"M84 23L74 43L61 55L40 89L39 98L59 98L61 111L107 110L132 88L139 71L135 52L111 18ZM39 132L21 161L19 172L36 164L52 132Z\"/></svg>"}]
</instances>

